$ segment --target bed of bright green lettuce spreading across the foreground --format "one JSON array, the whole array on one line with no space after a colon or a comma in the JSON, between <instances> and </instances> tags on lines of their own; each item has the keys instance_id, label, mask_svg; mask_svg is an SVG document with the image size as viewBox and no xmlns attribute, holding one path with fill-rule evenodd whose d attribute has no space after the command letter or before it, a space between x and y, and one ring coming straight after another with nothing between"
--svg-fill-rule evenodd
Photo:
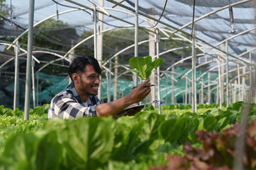
<instances>
[{"instance_id":1,"label":"bed of bright green lettuce spreading across the foreground","mask_svg":"<svg viewBox=\"0 0 256 170\"><path fill-rule=\"evenodd\" d=\"M201 104L197 113L192 113L191 106L188 105L170 105L161 108L161 115L158 114L157 109L154 109L117 120L108 117L78 120L56 118L49 121L47 121L49 105L31 109L29 121L23 120L23 111L0 106L0 169L144 170L151 166L166 165L166 154L186 155L182 149L184 146L187 147L187 151L191 151L188 154L200 157L197 156L199 150L194 147L202 149L203 141L208 139L212 140L215 153L225 155L227 152L223 146L227 145L228 151L231 151L230 142L236 138L236 136L226 136L225 130L240 121L242 114L240 111L244 110L241 109L244 107L242 105L234 103L229 109L221 110L216 105ZM252 120L256 117L254 103L251 103L250 109L248 118L254 122ZM248 151L253 156L250 156L250 167L253 168L252 162L256 155L256 150L251 149L256 148L256 142L253 141L254 132L255 128L250 126L248 134L250 133L251 136L247 139L250 145ZM214 138L215 134L218 140ZM225 139L222 139L221 135L226 136ZM202 139L201 143L197 137ZM191 145L186 145L186 142L190 142ZM209 144L207 148L212 145ZM206 152L202 150L199 154ZM171 159L173 163L181 161L180 165L185 167L190 166L191 163L185 157L177 159L173 157L173 159ZM222 160L219 161L219 166L230 167L228 158L224 159L226 159L223 160L224 163L221 163ZM195 164L198 163L205 164L206 167L211 166L202 161ZM249 168L249 165L245 166Z\"/></svg>"}]
</instances>

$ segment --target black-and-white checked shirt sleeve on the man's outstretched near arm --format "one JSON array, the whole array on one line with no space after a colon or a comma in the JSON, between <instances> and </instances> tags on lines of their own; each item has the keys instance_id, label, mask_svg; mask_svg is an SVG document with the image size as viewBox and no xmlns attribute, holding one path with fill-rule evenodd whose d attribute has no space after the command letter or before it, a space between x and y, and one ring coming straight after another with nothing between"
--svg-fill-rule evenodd
<instances>
[{"instance_id":1,"label":"black-and-white checked shirt sleeve on the man's outstretched near arm","mask_svg":"<svg viewBox=\"0 0 256 170\"><path fill-rule=\"evenodd\" d=\"M83 116L96 116L96 105L85 107L72 97L72 95L64 94L56 97L53 101L52 117L76 119Z\"/></svg>"}]
</instances>

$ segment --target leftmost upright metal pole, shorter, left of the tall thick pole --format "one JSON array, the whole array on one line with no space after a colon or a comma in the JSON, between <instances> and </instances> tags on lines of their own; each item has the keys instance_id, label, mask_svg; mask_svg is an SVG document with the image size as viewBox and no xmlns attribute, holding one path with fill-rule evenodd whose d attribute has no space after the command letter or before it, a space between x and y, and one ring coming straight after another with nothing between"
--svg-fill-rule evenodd
<instances>
[{"instance_id":1,"label":"leftmost upright metal pole, shorter, left of the tall thick pole","mask_svg":"<svg viewBox=\"0 0 256 170\"><path fill-rule=\"evenodd\" d=\"M19 52L20 52L20 45L19 41L17 40L15 46L15 76L14 76L14 109L19 108L19 97L20 97L20 64L19 64Z\"/></svg>"}]
</instances>

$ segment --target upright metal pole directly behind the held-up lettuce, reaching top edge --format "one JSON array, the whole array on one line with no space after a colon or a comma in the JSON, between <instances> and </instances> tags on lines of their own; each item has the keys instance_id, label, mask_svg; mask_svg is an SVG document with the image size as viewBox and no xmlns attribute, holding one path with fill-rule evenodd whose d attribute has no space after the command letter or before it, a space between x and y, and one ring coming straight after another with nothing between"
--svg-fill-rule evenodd
<instances>
[{"instance_id":1,"label":"upright metal pole directly behind the held-up lettuce, reaching top edge","mask_svg":"<svg viewBox=\"0 0 256 170\"><path fill-rule=\"evenodd\" d=\"M138 16L139 0L135 0L135 23L134 23L134 56L138 57L138 25L139 25L139 16ZM138 85L138 75L133 73L133 82L134 85Z\"/></svg>"}]
</instances>

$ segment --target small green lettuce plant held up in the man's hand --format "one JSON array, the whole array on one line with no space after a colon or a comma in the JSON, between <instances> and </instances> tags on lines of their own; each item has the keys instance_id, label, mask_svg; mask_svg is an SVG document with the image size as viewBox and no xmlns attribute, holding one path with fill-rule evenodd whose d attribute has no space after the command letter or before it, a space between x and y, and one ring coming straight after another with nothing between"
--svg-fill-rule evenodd
<instances>
[{"instance_id":1,"label":"small green lettuce plant held up in the man's hand","mask_svg":"<svg viewBox=\"0 0 256 170\"><path fill-rule=\"evenodd\" d=\"M145 57L133 57L130 58L130 67L134 68L133 71L138 74L142 79L148 79L151 76L151 72L154 68L159 67L163 63L162 58L157 58L152 62L152 57L150 55Z\"/></svg>"}]
</instances>

